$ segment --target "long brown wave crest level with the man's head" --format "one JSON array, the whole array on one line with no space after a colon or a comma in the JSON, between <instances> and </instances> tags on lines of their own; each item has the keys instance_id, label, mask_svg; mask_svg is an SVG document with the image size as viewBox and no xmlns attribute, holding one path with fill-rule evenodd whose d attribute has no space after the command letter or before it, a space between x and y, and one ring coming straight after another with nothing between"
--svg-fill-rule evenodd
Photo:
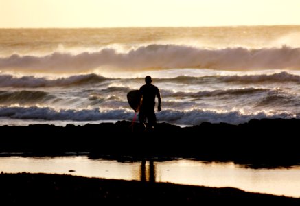
<instances>
[{"instance_id":1,"label":"long brown wave crest level with the man's head","mask_svg":"<svg viewBox=\"0 0 300 206\"><path fill-rule=\"evenodd\" d=\"M0 87L76 87L84 84L98 84L108 80L115 80L114 78L106 78L95 73L74 75L63 78L49 79L47 77L36 76L21 76L16 77L10 74L0 74ZM143 78L128 78L128 81L143 82ZM255 75L225 75L225 76L176 76L175 78L156 78L155 82L178 82L181 84L203 84L207 81L212 82L241 82L244 84L259 83L259 82L295 82L300 83L300 76L282 71L272 74L255 74ZM119 87L112 87L113 91L122 89ZM125 89L128 91L127 88ZM122 89L124 90L124 89Z\"/></svg>"}]
</instances>

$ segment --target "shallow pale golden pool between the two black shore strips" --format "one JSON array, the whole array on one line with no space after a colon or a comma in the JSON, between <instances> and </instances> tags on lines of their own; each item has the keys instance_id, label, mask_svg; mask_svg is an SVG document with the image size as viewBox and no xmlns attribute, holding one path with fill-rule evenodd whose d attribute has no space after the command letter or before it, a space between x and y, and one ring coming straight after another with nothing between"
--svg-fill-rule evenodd
<instances>
[{"instance_id":1,"label":"shallow pale golden pool between the two black shore strips","mask_svg":"<svg viewBox=\"0 0 300 206\"><path fill-rule=\"evenodd\" d=\"M155 161L155 162L154 162ZM0 172L43 172L73 174L105 179L169 182L209 187L237 187L249 192L262 192L300 197L300 167L251 169L233 162L205 162L192 159L157 161L116 161L88 157L0 157ZM72 171L72 172L71 172Z\"/></svg>"}]
</instances>

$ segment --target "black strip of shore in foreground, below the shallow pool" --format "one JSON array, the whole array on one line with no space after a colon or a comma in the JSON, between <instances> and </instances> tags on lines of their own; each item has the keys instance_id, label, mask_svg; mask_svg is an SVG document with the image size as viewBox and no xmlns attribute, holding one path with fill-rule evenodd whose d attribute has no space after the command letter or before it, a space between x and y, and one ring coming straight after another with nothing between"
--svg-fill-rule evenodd
<instances>
[{"instance_id":1,"label":"black strip of shore in foreground, below the shallow pool","mask_svg":"<svg viewBox=\"0 0 300 206\"><path fill-rule=\"evenodd\" d=\"M233 187L86 178L66 174L0 174L2 203L280 203L300 198L245 192Z\"/></svg>"}]
</instances>

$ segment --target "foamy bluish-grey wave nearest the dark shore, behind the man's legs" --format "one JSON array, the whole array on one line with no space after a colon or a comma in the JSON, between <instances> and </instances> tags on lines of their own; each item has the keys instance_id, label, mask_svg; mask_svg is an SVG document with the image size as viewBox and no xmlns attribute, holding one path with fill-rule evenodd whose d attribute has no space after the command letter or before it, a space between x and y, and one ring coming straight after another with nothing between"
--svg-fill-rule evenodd
<instances>
[{"instance_id":1,"label":"foamy bluish-grey wave nearest the dark shore, behind the man's legs","mask_svg":"<svg viewBox=\"0 0 300 206\"><path fill-rule=\"evenodd\" d=\"M0 117L11 119L43 119L43 120L73 120L73 121L97 121L97 120L132 120L134 113L125 109L113 111L100 111L99 109L61 109L33 107L0 107ZM191 111L173 111L166 110L157 113L159 122L170 122L172 124L198 125L203 122L229 124L241 124L250 119L262 118L295 118L297 115L285 112L266 113L264 111L257 113L243 114L239 111L205 111L195 109Z\"/></svg>"}]
</instances>

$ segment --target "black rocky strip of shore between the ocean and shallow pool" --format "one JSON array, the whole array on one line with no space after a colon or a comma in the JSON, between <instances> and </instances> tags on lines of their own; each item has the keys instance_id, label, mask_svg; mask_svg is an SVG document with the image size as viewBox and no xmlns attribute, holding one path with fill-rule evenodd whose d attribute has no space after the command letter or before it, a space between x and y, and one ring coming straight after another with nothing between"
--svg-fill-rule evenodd
<instances>
[{"instance_id":1,"label":"black rocky strip of shore between the ocean and shallow pool","mask_svg":"<svg viewBox=\"0 0 300 206\"><path fill-rule=\"evenodd\" d=\"M141 133L139 123L119 121L84 126L0 126L0 155L88 154L91 158L126 156L183 157L266 165L300 163L300 119L252 119L245 124L211 124L181 128L159 123Z\"/></svg>"}]
</instances>

